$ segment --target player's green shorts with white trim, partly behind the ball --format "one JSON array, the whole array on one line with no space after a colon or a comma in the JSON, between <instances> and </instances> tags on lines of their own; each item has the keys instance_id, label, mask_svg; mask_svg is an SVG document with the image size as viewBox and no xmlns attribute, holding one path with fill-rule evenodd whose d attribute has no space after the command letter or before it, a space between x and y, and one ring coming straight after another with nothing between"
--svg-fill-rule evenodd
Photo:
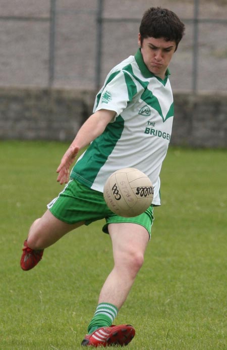
<instances>
[{"instance_id":1,"label":"player's green shorts with white trim, partly behind the ball","mask_svg":"<svg viewBox=\"0 0 227 350\"><path fill-rule=\"evenodd\" d=\"M131 222L144 226L150 236L154 220L153 206L133 218L124 218L112 213L104 201L102 192L95 191L75 179L69 181L47 208L56 218L68 224L84 221L85 225L89 225L96 220L105 219L106 224L102 228L105 233L108 233L108 224Z\"/></svg>"}]
</instances>

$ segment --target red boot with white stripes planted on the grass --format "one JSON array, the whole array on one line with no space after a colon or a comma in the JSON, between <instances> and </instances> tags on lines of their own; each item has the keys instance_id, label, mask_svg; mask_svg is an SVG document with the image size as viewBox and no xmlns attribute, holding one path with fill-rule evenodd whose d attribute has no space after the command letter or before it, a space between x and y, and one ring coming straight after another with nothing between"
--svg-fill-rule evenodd
<instances>
[{"instance_id":1,"label":"red boot with white stripes planted on the grass","mask_svg":"<svg viewBox=\"0 0 227 350\"><path fill-rule=\"evenodd\" d=\"M85 336L81 346L125 346L134 338L135 329L130 324L101 327Z\"/></svg>"}]
</instances>

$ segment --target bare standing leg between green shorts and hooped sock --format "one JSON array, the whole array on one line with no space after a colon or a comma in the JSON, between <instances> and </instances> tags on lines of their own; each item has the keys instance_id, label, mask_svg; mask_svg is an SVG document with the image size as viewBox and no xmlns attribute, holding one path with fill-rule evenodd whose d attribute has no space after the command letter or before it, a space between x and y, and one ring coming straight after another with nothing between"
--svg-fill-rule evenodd
<instances>
[{"instance_id":1,"label":"bare standing leg between green shorts and hooped sock","mask_svg":"<svg viewBox=\"0 0 227 350\"><path fill-rule=\"evenodd\" d=\"M99 295L99 303L110 303L118 310L124 304L144 261L149 241L147 230L133 223L109 224L114 267Z\"/></svg>"}]
</instances>

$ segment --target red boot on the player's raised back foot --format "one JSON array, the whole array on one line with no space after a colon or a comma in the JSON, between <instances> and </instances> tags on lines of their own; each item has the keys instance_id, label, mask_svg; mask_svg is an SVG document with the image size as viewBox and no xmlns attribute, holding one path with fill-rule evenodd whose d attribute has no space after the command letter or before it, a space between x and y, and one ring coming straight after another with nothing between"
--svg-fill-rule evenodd
<instances>
[{"instance_id":1,"label":"red boot on the player's raised back foot","mask_svg":"<svg viewBox=\"0 0 227 350\"><path fill-rule=\"evenodd\" d=\"M24 241L23 253L21 256L21 268L22 270L31 270L38 262L42 259L44 249L34 249L29 248L27 244L27 239Z\"/></svg>"}]
</instances>

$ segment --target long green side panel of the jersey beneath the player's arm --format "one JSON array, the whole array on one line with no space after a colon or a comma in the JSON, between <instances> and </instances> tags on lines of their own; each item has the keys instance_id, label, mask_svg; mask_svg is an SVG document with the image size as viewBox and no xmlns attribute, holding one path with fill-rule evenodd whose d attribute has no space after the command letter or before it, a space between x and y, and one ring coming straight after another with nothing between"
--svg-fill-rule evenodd
<instances>
[{"instance_id":1,"label":"long green side panel of the jersey beneath the player's arm","mask_svg":"<svg viewBox=\"0 0 227 350\"><path fill-rule=\"evenodd\" d=\"M71 177L90 187L115 148L123 129L124 119L120 115L115 122L109 123L104 132L90 144L84 156L74 166Z\"/></svg>"}]
</instances>

